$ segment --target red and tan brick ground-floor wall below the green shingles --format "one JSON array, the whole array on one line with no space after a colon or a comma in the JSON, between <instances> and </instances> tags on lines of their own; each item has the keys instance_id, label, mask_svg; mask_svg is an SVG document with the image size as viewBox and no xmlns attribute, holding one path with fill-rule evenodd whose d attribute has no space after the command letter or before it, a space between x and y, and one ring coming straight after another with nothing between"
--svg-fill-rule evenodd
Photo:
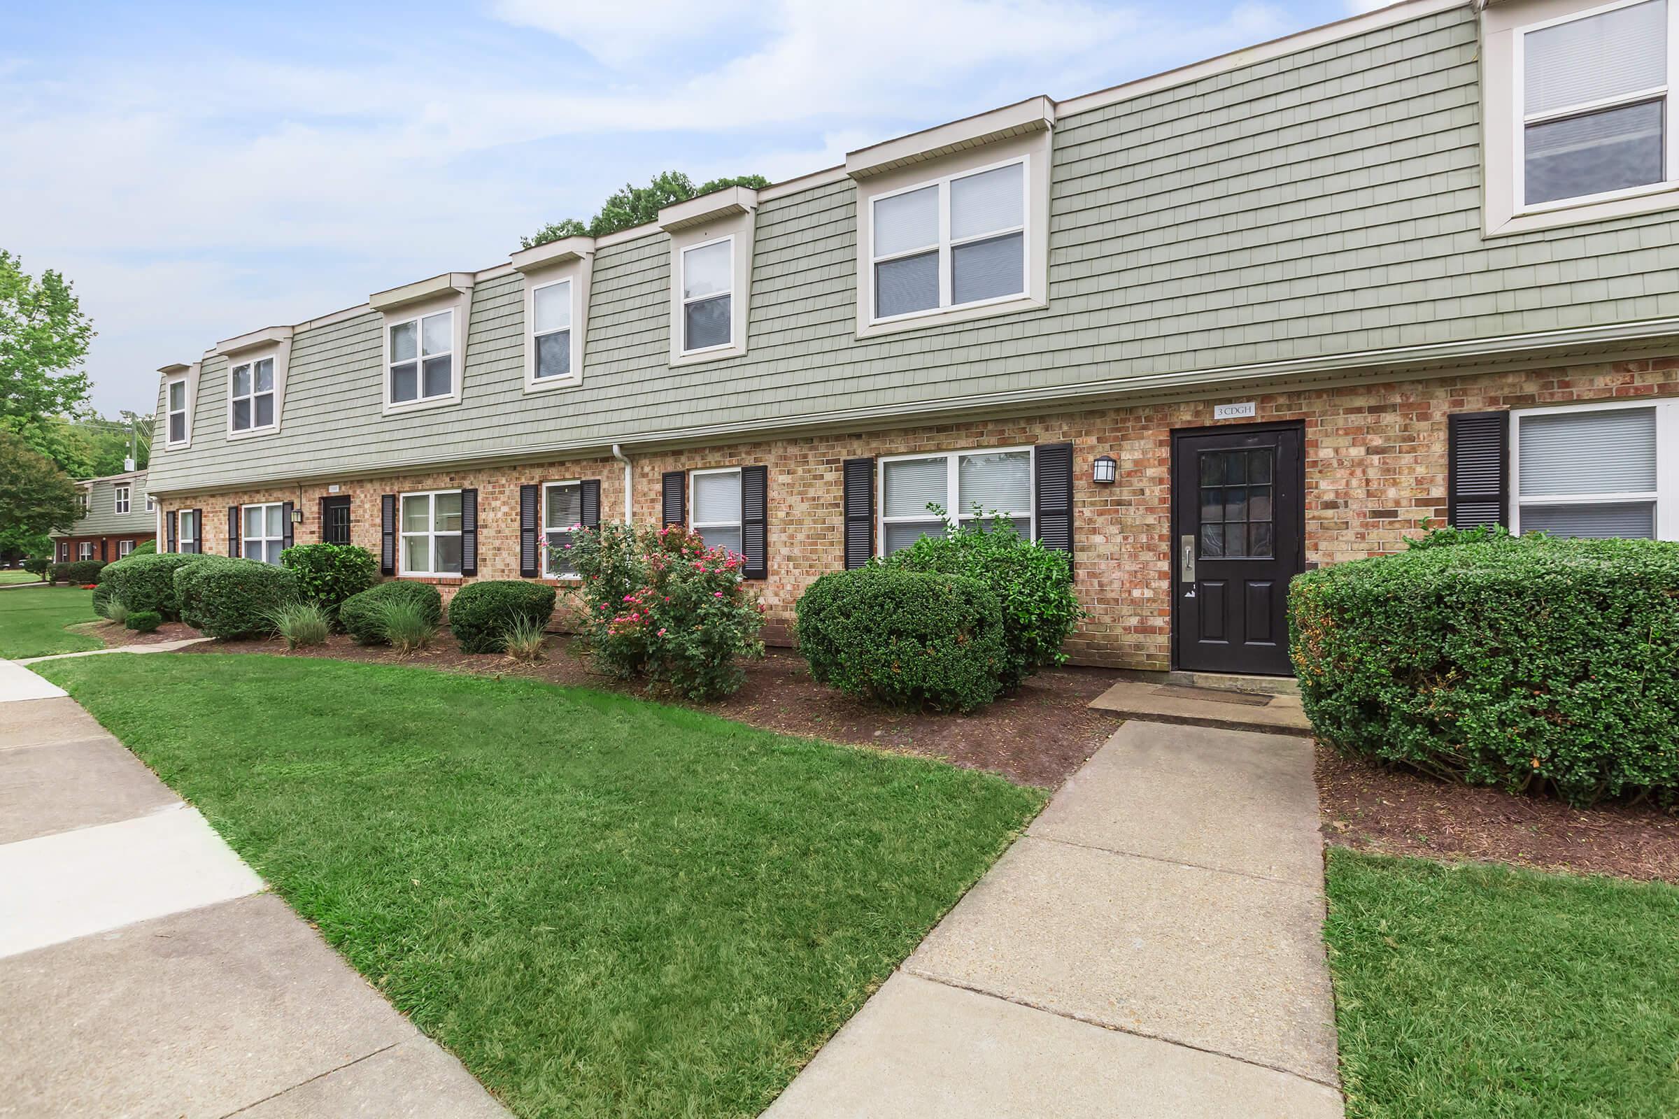
<instances>
[{"instance_id":1,"label":"red and tan brick ground-floor wall below the green shingles","mask_svg":"<svg viewBox=\"0 0 1679 1119\"><path fill-rule=\"evenodd\" d=\"M1306 559L1331 564L1400 547L1446 518L1447 416L1607 398L1679 396L1679 357L1550 371L1464 374L1394 384L1347 384L1274 394L1242 393L1259 421L1300 419L1306 429ZM769 638L784 639L792 604L818 575L843 564L841 463L912 451L1073 441L1076 586L1090 617L1070 643L1080 663L1167 668L1170 661L1170 446L1177 428L1211 426L1212 401L1058 413L1029 419L902 428L868 435L769 440L715 450L633 455L635 517L660 522L667 470L769 466ZM1231 421L1242 423L1242 421ZM1091 461L1120 463L1115 485L1090 480ZM353 539L378 554L379 495L479 488L479 572L519 577L519 485L601 480L601 517L623 510L613 460L437 471L341 481L353 498ZM205 510L205 550L227 550L227 507L292 500L306 513L299 542L319 540L324 487L168 498L166 510ZM460 580L438 580L445 594Z\"/></svg>"}]
</instances>

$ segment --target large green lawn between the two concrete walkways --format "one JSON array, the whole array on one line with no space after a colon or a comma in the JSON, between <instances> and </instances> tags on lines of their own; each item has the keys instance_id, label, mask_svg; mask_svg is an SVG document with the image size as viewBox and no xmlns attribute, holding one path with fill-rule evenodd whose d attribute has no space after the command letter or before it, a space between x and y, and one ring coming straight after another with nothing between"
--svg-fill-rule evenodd
<instances>
[{"instance_id":1,"label":"large green lawn between the two concrete walkways","mask_svg":"<svg viewBox=\"0 0 1679 1119\"><path fill-rule=\"evenodd\" d=\"M526 679L44 668L520 1116L757 1114L1043 802Z\"/></svg>"}]
</instances>

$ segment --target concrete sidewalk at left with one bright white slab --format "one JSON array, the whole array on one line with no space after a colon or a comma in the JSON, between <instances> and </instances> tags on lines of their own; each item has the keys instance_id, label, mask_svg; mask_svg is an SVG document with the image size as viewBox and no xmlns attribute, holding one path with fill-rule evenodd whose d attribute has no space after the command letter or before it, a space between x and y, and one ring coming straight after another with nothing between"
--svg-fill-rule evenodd
<instances>
[{"instance_id":1,"label":"concrete sidewalk at left with one bright white slab","mask_svg":"<svg viewBox=\"0 0 1679 1119\"><path fill-rule=\"evenodd\" d=\"M507 1116L195 809L12 661L0 991L0 1117Z\"/></svg>"}]
</instances>

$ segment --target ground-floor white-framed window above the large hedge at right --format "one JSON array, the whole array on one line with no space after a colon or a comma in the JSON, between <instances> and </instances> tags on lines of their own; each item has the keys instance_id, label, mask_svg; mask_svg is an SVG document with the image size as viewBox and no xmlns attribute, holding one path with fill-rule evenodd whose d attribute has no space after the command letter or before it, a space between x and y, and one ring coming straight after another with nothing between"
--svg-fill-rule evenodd
<instances>
[{"instance_id":1,"label":"ground-floor white-framed window above the large hedge at right","mask_svg":"<svg viewBox=\"0 0 1679 1119\"><path fill-rule=\"evenodd\" d=\"M1679 401L1511 414L1513 532L1679 540Z\"/></svg>"}]
</instances>

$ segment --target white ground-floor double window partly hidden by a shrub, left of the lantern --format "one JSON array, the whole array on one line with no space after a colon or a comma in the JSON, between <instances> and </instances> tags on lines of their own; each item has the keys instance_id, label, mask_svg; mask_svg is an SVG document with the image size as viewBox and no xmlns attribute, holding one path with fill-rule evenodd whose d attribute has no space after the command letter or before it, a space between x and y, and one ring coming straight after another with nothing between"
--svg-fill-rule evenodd
<instances>
[{"instance_id":1,"label":"white ground-floor double window partly hidden by a shrub, left of the lantern","mask_svg":"<svg viewBox=\"0 0 1679 1119\"><path fill-rule=\"evenodd\" d=\"M928 508L928 505L935 508ZM880 461L883 555L922 537L942 537L947 520L1002 518L1033 539L1033 451L952 451Z\"/></svg>"}]
</instances>

